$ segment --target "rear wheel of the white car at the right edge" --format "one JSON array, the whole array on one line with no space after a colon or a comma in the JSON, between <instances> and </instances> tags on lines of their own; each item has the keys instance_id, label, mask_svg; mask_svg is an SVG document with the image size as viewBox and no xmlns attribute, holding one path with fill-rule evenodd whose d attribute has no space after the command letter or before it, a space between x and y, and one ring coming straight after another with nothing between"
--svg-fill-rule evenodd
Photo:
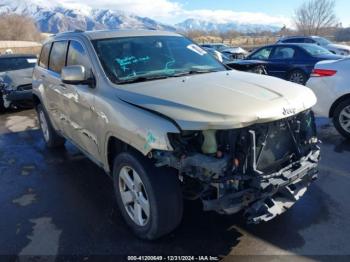
<instances>
[{"instance_id":1,"label":"rear wheel of the white car at the right edge","mask_svg":"<svg viewBox=\"0 0 350 262\"><path fill-rule=\"evenodd\" d=\"M334 109L333 123L338 132L350 139L350 99L339 103Z\"/></svg>"}]
</instances>

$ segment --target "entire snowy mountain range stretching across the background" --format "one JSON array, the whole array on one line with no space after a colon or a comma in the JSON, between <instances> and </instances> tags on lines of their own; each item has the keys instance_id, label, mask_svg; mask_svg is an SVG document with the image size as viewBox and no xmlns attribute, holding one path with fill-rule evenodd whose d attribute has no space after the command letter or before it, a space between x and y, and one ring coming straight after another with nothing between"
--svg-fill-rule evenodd
<instances>
[{"instance_id":1,"label":"entire snowy mountain range stretching across the background","mask_svg":"<svg viewBox=\"0 0 350 262\"><path fill-rule=\"evenodd\" d=\"M148 17L126 13L120 10L93 9L86 5L71 8L57 0L0 0L0 14L26 15L34 19L39 30L46 33L99 29L159 29L167 31L236 30L276 31L279 27L237 22L215 23L199 19L187 19L174 26L166 25Z\"/></svg>"}]
</instances>

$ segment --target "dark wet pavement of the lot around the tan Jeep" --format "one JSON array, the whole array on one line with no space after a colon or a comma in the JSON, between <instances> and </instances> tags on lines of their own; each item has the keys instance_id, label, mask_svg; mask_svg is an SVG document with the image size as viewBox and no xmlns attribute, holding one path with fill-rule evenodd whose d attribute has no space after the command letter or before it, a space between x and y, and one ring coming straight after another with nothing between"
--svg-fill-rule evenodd
<instances>
[{"instance_id":1,"label":"dark wet pavement of the lot around the tan Jeep","mask_svg":"<svg viewBox=\"0 0 350 262\"><path fill-rule=\"evenodd\" d=\"M247 261L350 255L350 143L328 121L318 122L319 179L291 210L268 223L246 225L241 214L220 216L186 202L174 233L144 242L123 222L111 180L100 168L70 144L60 151L46 149L34 110L0 115L0 255L67 255L84 261L93 255L114 261L114 255Z\"/></svg>"}]
</instances>

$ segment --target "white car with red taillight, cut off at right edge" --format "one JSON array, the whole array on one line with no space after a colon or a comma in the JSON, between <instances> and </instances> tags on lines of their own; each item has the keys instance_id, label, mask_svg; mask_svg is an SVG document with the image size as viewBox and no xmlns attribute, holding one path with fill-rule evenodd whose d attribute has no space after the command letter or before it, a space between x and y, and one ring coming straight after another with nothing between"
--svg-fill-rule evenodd
<instances>
[{"instance_id":1,"label":"white car with red taillight, cut off at right edge","mask_svg":"<svg viewBox=\"0 0 350 262\"><path fill-rule=\"evenodd\" d=\"M350 139L350 58L321 61L315 65L307 86L317 96L314 112L333 118L340 134Z\"/></svg>"}]
</instances>

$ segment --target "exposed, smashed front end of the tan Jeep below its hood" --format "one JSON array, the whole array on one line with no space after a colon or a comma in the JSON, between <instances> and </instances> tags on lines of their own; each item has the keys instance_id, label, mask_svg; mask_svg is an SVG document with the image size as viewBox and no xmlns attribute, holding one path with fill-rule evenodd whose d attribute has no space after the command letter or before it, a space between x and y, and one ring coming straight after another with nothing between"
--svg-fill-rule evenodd
<instances>
[{"instance_id":1,"label":"exposed, smashed front end of the tan Jeep below its hood","mask_svg":"<svg viewBox=\"0 0 350 262\"><path fill-rule=\"evenodd\" d=\"M248 222L268 221L290 208L317 178L320 149L311 110L232 130L168 134L174 151L153 151L156 166L179 172L184 196L204 210Z\"/></svg>"}]
</instances>

